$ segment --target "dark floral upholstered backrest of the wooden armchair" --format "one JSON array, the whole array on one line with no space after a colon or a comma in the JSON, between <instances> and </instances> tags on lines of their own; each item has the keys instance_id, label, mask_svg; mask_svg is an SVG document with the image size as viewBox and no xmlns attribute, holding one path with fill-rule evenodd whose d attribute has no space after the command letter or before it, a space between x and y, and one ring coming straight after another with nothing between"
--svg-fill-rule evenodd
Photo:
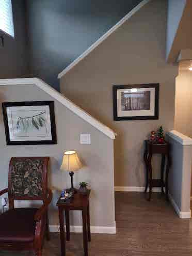
<instances>
[{"instance_id":1,"label":"dark floral upholstered backrest of the wooden armchair","mask_svg":"<svg viewBox=\"0 0 192 256\"><path fill-rule=\"evenodd\" d=\"M12 157L9 196L16 200L45 200L49 157Z\"/></svg>"}]
</instances>

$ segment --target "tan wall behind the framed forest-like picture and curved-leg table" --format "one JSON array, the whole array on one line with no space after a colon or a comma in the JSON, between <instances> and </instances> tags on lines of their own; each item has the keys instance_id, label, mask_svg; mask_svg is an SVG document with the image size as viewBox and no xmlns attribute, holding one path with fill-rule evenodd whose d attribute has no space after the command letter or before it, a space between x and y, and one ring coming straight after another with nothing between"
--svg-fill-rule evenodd
<instances>
[{"instance_id":1,"label":"tan wall behind the framed forest-like picture and curved-leg table","mask_svg":"<svg viewBox=\"0 0 192 256\"><path fill-rule=\"evenodd\" d=\"M166 0L151 1L61 78L63 94L117 132L116 186L143 186L143 140L173 129L178 67L165 61L166 15ZM112 86L142 83L160 83L159 120L113 121Z\"/></svg>"}]
</instances>

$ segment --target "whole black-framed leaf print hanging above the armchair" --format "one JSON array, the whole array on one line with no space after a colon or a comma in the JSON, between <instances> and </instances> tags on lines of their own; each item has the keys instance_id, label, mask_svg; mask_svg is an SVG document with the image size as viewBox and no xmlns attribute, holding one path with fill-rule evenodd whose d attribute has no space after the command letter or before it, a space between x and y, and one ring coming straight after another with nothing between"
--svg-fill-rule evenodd
<instances>
[{"instance_id":1,"label":"whole black-framed leaf print hanging above the armchair","mask_svg":"<svg viewBox=\"0 0 192 256\"><path fill-rule=\"evenodd\" d=\"M56 144L53 101L2 103L7 145Z\"/></svg>"}]
</instances>

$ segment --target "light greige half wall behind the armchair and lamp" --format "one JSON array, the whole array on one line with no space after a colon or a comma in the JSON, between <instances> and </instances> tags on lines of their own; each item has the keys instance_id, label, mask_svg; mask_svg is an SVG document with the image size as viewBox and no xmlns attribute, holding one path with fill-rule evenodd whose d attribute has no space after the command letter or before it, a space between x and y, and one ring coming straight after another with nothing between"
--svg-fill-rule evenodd
<instances>
[{"instance_id":1,"label":"light greige half wall behind the armchair and lamp","mask_svg":"<svg viewBox=\"0 0 192 256\"><path fill-rule=\"evenodd\" d=\"M2 102L54 100L37 86L0 86ZM49 185L59 190L70 186L67 172L59 170L62 154L66 150L76 150L86 167L74 175L74 185L87 181L91 188L91 226L115 225L114 202L114 140L96 130L57 101L55 118L57 145L7 146L2 109L0 110L0 190L8 185L8 164L11 156L50 156ZM91 134L91 145L81 145L79 135ZM59 193L54 190L50 207L50 224L58 225L56 201ZM71 225L82 225L81 213L73 213Z\"/></svg>"}]
</instances>

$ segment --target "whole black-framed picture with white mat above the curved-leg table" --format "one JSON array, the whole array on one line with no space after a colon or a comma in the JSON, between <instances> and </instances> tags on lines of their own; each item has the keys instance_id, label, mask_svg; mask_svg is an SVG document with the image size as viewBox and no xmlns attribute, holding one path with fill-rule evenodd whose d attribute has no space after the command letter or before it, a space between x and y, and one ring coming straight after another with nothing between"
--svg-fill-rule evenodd
<instances>
[{"instance_id":1,"label":"whole black-framed picture with white mat above the curved-leg table","mask_svg":"<svg viewBox=\"0 0 192 256\"><path fill-rule=\"evenodd\" d=\"M159 84L114 85L114 120L158 119Z\"/></svg>"}]
</instances>

